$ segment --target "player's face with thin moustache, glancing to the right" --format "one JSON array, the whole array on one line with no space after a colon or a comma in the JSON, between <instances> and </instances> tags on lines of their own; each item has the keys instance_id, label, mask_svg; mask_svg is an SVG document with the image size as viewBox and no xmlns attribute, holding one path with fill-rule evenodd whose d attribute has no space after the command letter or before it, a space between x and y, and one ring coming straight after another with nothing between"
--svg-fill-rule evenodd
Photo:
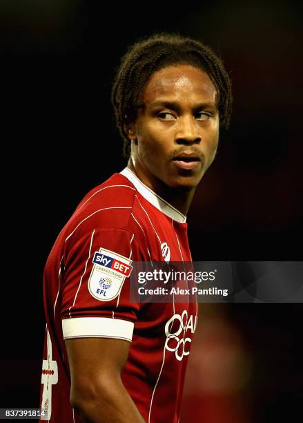
<instances>
[{"instance_id":1,"label":"player's face with thin moustache, glancing to the right","mask_svg":"<svg viewBox=\"0 0 303 423\"><path fill-rule=\"evenodd\" d=\"M207 73L190 65L163 68L148 79L142 106L128 126L139 178L157 191L194 189L215 158L218 93Z\"/></svg>"}]
</instances>

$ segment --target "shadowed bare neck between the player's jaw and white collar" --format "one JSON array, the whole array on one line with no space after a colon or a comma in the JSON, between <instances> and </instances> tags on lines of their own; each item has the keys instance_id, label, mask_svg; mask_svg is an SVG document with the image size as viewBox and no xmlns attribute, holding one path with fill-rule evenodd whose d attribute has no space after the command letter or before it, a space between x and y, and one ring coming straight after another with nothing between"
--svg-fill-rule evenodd
<instances>
[{"instance_id":1,"label":"shadowed bare neck between the player's jaw and white collar","mask_svg":"<svg viewBox=\"0 0 303 423\"><path fill-rule=\"evenodd\" d=\"M144 172L142 172L139 168L135 167L135 164L130 158L128 160L128 169L133 171L137 178L141 180L146 187L152 189L155 194L162 197L164 200L166 200L170 205L175 207L175 209L179 210L184 216L186 216L188 209L190 207L190 203L193 200L193 196L195 194L195 188L190 189L173 189L171 187L168 187L164 182L161 180L155 178L151 173L148 174L148 177Z\"/></svg>"}]
</instances>

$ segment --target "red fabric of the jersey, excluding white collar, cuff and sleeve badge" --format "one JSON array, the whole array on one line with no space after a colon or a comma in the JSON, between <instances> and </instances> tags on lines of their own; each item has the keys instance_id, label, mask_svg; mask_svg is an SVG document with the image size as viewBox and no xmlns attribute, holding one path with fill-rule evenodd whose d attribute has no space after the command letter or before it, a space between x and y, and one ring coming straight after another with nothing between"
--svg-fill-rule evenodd
<instances>
[{"instance_id":1,"label":"red fabric of the jersey, excluding white collar, cuff and sleeve badge","mask_svg":"<svg viewBox=\"0 0 303 423\"><path fill-rule=\"evenodd\" d=\"M88 290L92 257L100 247L133 261L163 261L161 245L164 242L170 248L170 261L190 261L187 224L177 223L166 216L119 173L90 191L63 227L50 252L43 276L43 299L52 361L57 362L58 368L57 384L49 382L41 385L41 395L43 388L52 390L51 422L74 422L61 319L113 319L113 316L135 323L122 380L141 415L148 422L150 414L150 423L178 422L188 355L182 359L177 359L177 355L182 357L182 348L186 351L190 348L197 304L130 303L128 277L119 299L99 301ZM170 339L170 350L165 348L165 326L172 317L170 333L178 332L179 328L178 337L185 341L185 344L181 342L177 352L171 351L177 345L176 339ZM189 321L191 323L186 330L186 322ZM46 335L43 355L46 361L49 359L48 349ZM48 375L46 368L51 368L46 361L44 375ZM41 404L41 408L44 406ZM75 413L75 422L80 421Z\"/></svg>"}]
</instances>

